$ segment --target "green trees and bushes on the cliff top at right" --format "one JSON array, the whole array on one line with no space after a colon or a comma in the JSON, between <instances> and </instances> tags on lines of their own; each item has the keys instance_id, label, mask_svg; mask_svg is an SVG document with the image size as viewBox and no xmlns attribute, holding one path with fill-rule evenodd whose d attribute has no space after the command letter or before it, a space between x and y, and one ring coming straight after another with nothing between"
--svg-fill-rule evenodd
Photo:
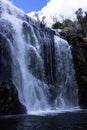
<instances>
[{"instance_id":1,"label":"green trees and bushes on the cliff top at right","mask_svg":"<svg viewBox=\"0 0 87 130\"><path fill-rule=\"evenodd\" d=\"M75 15L77 17L76 21L72 21L70 19L64 19L62 22L58 21L58 17L54 16L52 25L53 29L62 29L66 32L79 34L82 37L87 36L87 12L84 12L82 8L79 8Z\"/></svg>"}]
</instances>

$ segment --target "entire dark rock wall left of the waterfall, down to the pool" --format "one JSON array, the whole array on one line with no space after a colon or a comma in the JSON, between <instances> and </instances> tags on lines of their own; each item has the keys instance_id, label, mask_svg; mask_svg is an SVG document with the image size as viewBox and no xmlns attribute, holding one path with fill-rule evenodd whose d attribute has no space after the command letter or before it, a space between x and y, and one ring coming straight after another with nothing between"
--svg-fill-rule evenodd
<instances>
[{"instance_id":1,"label":"entire dark rock wall left of the waterfall, down to the pool","mask_svg":"<svg viewBox=\"0 0 87 130\"><path fill-rule=\"evenodd\" d=\"M0 115L26 113L12 80L10 41L0 33Z\"/></svg>"}]
</instances>

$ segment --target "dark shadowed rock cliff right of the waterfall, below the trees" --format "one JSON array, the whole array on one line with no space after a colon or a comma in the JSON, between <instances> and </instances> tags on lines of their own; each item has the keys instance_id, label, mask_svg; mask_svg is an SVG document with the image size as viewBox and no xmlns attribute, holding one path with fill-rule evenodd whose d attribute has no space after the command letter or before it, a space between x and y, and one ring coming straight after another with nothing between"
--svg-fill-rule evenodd
<instances>
[{"instance_id":1,"label":"dark shadowed rock cliff right of the waterfall, below the trees","mask_svg":"<svg viewBox=\"0 0 87 130\"><path fill-rule=\"evenodd\" d=\"M72 48L79 104L82 108L87 108L87 43L76 35L67 37L67 40Z\"/></svg>"}]
</instances>

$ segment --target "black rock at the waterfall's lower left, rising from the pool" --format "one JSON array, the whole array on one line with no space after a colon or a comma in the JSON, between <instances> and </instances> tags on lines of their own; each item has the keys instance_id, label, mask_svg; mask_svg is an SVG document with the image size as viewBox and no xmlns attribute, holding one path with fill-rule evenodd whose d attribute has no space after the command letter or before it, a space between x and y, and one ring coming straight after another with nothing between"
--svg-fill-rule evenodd
<instances>
[{"instance_id":1,"label":"black rock at the waterfall's lower left, rising from the pool","mask_svg":"<svg viewBox=\"0 0 87 130\"><path fill-rule=\"evenodd\" d=\"M11 80L0 85L0 115L25 113L25 107L18 100L18 92Z\"/></svg>"}]
</instances>

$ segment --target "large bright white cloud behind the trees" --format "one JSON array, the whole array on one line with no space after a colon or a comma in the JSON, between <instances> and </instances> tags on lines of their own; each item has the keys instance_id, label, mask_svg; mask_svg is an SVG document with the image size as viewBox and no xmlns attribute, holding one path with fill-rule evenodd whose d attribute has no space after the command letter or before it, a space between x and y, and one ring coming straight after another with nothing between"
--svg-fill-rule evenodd
<instances>
[{"instance_id":1,"label":"large bright white cloud behind the trees","mask_svg":"<svg viewBox=\"0 0 87 130\"><path fill-rule=\"evenodd\" d=\"M87 0L50 0L41 11L38 11L38 14L40 18L46 16L47 25L50 26L51 17L54 15L58 15L59 20L61 20L60 15L64 15L64 18L75 19L75 11L78 8L86 10ZM32 14L31 16L34 17L34 13Z\"/></svg>"}]
</instances>

